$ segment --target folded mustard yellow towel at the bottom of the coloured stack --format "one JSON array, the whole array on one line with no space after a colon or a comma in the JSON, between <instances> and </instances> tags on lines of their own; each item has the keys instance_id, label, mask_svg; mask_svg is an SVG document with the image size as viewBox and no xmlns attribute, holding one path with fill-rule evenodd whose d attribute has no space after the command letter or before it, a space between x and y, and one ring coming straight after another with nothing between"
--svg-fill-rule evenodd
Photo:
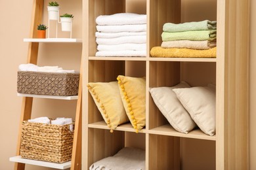
<instances>
[{"instance_id":1,"label":"folded mustard yellow towel at the bottom of the coloured stack","mask_svg":"<svg viewBox=\"0 0 256 170\"><path fill-rule=\"evenodd\" d=\"M153 58L216 58L216 47L208 50L188 48L162 48L155 46L150 50Z\"/></svg>"}]
</instances>

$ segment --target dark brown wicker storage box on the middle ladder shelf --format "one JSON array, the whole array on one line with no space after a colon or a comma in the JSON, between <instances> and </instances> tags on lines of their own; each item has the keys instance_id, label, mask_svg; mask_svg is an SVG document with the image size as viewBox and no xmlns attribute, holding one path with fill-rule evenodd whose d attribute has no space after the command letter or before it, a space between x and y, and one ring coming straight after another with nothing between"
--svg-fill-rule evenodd
<instances>
[{"instance_id":1,"label":"dark brown wicker storage box on the middle ladder shelf","mask_svg":"<svg viewBox=\"0 0 256 170\"><path fill-rule=\"evenodd\" d=\"M79 73L18 71L17 92L37 95L77 95Z\"/></svg>"}]
</instances>

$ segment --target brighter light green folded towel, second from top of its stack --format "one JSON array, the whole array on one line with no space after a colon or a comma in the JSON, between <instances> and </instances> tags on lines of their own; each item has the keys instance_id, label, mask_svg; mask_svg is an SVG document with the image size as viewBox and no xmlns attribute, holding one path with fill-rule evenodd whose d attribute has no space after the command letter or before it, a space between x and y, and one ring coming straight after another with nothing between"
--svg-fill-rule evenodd
<instances>
[{"instance_id":1,"label":"brighter light green folded towel, second from top of its stack","mask_svg":"<svg viewBox=\"0 0 256 170\"><path fill-rule=\"evenodd\" d=\"M216 39L216 29L207 31L184 31L176 33L163 32L162 41L192 40L192 41L213 41Z\"/></svg>"}]
</instances>

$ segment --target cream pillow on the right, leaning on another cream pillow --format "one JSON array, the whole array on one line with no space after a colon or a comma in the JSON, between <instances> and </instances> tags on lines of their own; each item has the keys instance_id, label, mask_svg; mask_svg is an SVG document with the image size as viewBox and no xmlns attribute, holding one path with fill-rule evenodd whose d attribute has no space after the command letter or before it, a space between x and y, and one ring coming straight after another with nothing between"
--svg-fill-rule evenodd
<instances>
[{"instance_id":1,"label":"cream pillow on the right, leaning on another cream pillow","mask_svg":"<svg viewBox=\"0 0 256 170\"><path fill-rule=\"evenodd\" d=\"M216 95L213 86L173 89L198 127L207 135L216 132Z\"/></svg>"}]
</instances>

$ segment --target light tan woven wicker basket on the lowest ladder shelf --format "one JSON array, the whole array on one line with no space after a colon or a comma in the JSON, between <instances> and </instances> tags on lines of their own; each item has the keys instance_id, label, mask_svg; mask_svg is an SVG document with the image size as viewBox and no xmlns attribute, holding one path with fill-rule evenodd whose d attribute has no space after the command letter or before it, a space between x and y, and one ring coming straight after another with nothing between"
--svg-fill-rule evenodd
<instances>
[{"instance_id":1,"label":"light tan woven wicker basket on the lowest ladder shelf","mask_svg":"<svg viewBox=\"0 0 256 170\"><path fill-rule=\"evenodd\" d=\"M22 158L64 163L72 158L74 131L70 125L22 122Z\"/></svg>"}]
</instances>

